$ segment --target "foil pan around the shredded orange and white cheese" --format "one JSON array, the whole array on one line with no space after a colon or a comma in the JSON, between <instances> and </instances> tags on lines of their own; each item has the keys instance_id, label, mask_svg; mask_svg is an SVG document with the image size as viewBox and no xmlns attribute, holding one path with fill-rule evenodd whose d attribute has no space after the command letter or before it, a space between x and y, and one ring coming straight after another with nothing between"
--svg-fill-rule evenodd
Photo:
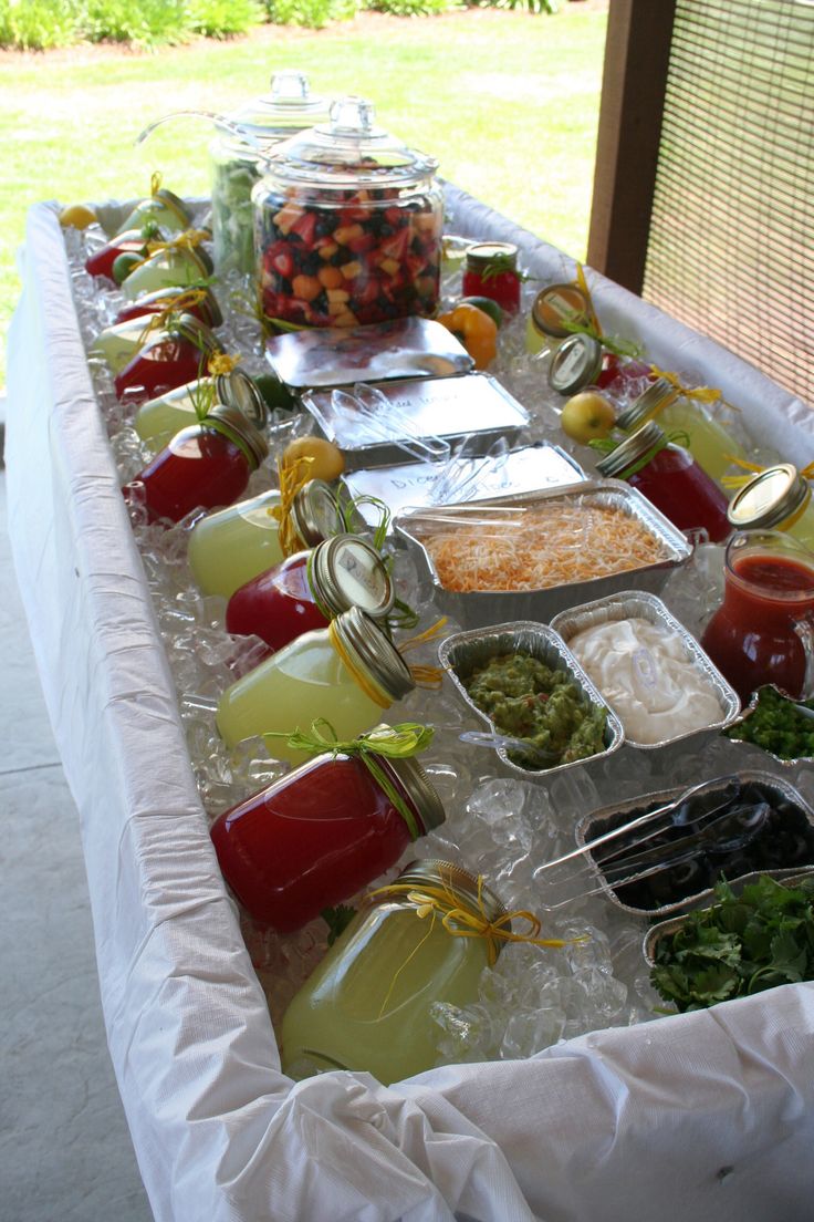
<instances>
[{"instance_id":1,"label":"foil pan around the shredded orange and white cheese","mask_svg":"<svg viewBox=\"0 0 814 1222\"><path fill-rule=\"evenodd\" d=\"M514 511L533 510L558 500L564 500L566 503L575 501L578 505L616 508L635 518L660 544L664 558L639 568L627 568L620 573L537 590L456 591L442 585L423 544L430 535L467 525L470 529L477 528L481 522L486 523L484 529L491 529L493 525L497 529L511 529ZM658 594L672 571L686 563L692 555L692 545L664 514L659 513L636 489L615 479L588 480L571 488L489 497L460 507L405 510L395 516L394 530L411 550L421 574L432 583L436 606L465 628L509 620L548 623L560 611L624 589L643 589Z\"/></svg>"}]
</instances>

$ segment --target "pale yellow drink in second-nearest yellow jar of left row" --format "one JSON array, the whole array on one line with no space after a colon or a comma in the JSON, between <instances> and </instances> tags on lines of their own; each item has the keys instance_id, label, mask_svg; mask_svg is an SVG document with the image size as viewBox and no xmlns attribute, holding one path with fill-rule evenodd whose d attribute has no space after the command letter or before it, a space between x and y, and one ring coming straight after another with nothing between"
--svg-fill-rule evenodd
<instances>
[{"instance_id":1,"label":"pale yellow drink in second-nearest yellow jar of left row","mask_svg":"<svg viewBox=\"0 0 814 1222\"><path fill-rule=\"evenodd\" d=\"M350 613L350 612L347 612ZM270 731L309 730L316 717L340 739L354 738L382 720L391 700L373 700L331 644L327 628L303 633L226 689L217 705L217 732L229 747ZM275 759L301 764L308 755L284 738L267 743Z\"/></svg>"}]
</instances>

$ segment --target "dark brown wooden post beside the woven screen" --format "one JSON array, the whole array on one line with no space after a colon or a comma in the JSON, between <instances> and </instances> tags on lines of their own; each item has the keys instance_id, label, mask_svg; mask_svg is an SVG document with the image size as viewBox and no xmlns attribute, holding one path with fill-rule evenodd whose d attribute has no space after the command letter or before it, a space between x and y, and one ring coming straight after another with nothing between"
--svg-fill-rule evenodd
<instances>
[{"instance_id":1,"label":"dark brown wooden post beside the woven screen","mask_svg":"<svg viewBox=\"0 0 814 1222\"><path fill-rule=\"evenodd\" d=\"M676 0L610 0L588 263L644 282Z\"/></svg>"}]
</instances>

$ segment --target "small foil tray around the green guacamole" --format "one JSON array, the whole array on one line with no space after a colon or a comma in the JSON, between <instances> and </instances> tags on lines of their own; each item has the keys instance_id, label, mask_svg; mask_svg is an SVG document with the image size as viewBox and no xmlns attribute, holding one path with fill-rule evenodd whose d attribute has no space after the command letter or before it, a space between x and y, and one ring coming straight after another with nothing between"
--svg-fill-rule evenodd
<instances>
[{"instance_id":1,"label":"small foil tray around the green guacamole","mask_svg":"<svg viewBox=\"0 0 814 1222\"><path fill-rule=\"evenodd\" d=\"M500 657L505 654L526 653L539 659L553 671L565 671L570 679L576 683L585 700L605 711L607 722L604 732L604 750L594 755L587 755L581 760L571 760L567 764L555 764L550 767L528 769L521 767L509 759L509 753L504 747L495 747L502 763L525 780L541 777L548 780L565 769L577 765L591 764L596 760L605 759L611 752L621 747L625 732L619 717L608 708L596 689L588 676L585 673L574 655L563 644L561 637L543 623L500 623L489 629L476 628L470 632L456 632L447 637L438 646L438 657L443 670L449 675L455 693L460 701L472 712L484 727L493 733L500 734L484 712L482 712L471 699L465 687L465 679L480 666L484 666L492 657Z\"/></svg>"}]
</instances>

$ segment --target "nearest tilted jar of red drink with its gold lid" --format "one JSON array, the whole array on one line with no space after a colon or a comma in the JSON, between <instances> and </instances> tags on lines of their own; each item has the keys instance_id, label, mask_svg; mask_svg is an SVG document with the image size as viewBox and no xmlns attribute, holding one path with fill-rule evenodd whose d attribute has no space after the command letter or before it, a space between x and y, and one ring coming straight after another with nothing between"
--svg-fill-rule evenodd
<instances>
[{"instance_id":1,"label":"nearest tilted jar of red drink with its gold lid","mask_svg":"<svg viewBox=\"0 0 814 1222\"><path fill-rule=\"evenodd\" d=\"M223 877L255 920L283 934L356 895L437 827L444 809L414 758L317 755L212 825Z\"/></svg>"}]
</instances>

